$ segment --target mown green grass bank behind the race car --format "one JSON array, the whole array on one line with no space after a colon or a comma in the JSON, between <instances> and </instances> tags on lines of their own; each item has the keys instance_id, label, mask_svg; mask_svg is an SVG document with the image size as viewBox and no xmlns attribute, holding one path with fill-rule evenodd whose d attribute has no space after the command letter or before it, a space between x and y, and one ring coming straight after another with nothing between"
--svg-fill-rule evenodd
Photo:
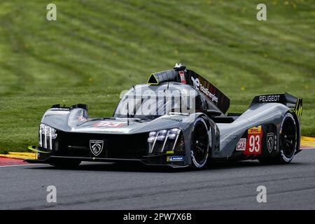
<instances>
[{"instance_id":1,"label":"mown green grass bank behind the race car","mask_svg":"<svg viewBox=\"0 0 315 224\"><path fill-rule=\"evenodd\" d=\"M256 94L302 97L302 134L315 135L315 3L267 1L267 22L258 3L1 0L0 151L35 145L52 104L111 116L120 91L176 62L223 90L230 111Z\"/></svg>"}]
</instances>

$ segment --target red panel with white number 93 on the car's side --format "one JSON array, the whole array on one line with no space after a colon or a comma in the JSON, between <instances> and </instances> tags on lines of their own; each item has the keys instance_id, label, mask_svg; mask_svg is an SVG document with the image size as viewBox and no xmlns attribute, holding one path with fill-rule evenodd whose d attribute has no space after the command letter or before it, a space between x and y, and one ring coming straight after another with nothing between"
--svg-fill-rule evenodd
<instances>
[{"instance_id":1,"label":"red panel with white number 93 on the car's side","mask_svg":"<svg viewBox=\"0 0 315 224\"><path fill-rule=\"evenodd\" d=\"M245 155L260 155L261 154L261 139L262 127L251 127L248 129L248 136L246 141Z\"/></svg>"}]
</instances>

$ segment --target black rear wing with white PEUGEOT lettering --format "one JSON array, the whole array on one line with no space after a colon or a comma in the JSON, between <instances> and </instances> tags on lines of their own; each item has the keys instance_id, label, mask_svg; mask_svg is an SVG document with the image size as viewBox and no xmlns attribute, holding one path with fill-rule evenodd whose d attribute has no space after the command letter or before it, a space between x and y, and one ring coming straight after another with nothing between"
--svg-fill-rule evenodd
<instances>
[{"instance_id":1,"label":"black rear wing with white PEUGEOT lettering","mask_svg":"<svg viewBox=\"0 0 315 224\"><path fill-rule=\"evenodd\" d=\"M280 103L288 106L298 118L302 116L302 98L297 98L288 92L283 94L265 94L255 96L251 105L266 104L266 103Z\"/></svg>"}]
</instances>

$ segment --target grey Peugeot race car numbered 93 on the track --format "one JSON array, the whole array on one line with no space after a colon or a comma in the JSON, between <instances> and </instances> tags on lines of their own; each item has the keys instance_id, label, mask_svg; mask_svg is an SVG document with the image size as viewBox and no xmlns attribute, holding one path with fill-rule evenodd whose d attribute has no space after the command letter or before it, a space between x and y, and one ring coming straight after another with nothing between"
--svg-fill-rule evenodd
<instances>
[{"instance_id":1,"label":"grey Peugeot race car numbered 93 on the track","mask_svg":"<svg viewBox=\"0 0 315 224\"><path fill-rule=\"evenodd\" d=\"M195 71L176 64L127 90L111 118L90 118L85 104L53 105L39 125L36 160L55 167L82 161L202 169L212 161L288 164L300 152L302 99L253 97L244 113Z\"/></svg>"}]
</instances>

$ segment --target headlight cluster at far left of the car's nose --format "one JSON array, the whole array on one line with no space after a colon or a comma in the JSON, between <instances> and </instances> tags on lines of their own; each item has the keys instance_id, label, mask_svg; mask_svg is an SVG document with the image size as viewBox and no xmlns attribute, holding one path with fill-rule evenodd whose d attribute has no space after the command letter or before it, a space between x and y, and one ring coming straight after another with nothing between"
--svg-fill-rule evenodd
<instances>
[{"instance_id":1,"label":"headlight cluster at far left of the car's nose","mask_svg":"<svg viewBox=\"0 0 315 224\"><path fill-rule=\"evenodd\" d=\"M56 139L56 130L48 125L41 124L38 133L38 146L52 150L52 139Z\"/></svg>"}]
</instances>

